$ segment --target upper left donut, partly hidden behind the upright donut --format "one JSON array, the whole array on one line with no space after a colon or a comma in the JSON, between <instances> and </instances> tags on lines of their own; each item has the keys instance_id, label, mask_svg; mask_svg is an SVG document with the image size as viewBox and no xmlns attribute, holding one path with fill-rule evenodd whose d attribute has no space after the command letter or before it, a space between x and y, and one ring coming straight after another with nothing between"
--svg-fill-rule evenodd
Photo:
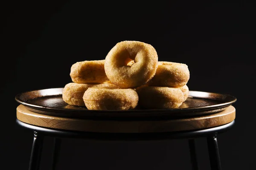
<instances>
[{"instance_id":1,"label":"upper left donut, partly hidden behind the upright donut","mask_svg":"<svg viewBox=\"0 0 256 170\"><path fill-rule=\"evenodd\" d=\"M105 59L76 62L71 66L70 77L76 83L102 83L108 81Z\"/></svg>"}]
</instances>

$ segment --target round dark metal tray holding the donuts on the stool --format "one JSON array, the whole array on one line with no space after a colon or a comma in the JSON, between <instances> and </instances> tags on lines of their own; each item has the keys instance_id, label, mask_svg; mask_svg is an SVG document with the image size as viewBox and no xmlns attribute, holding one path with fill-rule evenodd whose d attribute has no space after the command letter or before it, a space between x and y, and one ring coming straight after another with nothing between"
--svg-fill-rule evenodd
<instances>
[{"instance_id":1,"label":"round dark metal tray holding the donuts on the stool","mask_svg":"<svg viewBox=\"0 0 256 170\"><path fill-rule=\"evenodd\" d=\"M28 110L52 116L79 119L177 119L225 110L236 102L229 94L189 91L189 97L175 109L133 109L127 111L95 111L67 104L62 99L63 88L49 88L17 94L15 100Z\"/></svg>"}]
</instances>

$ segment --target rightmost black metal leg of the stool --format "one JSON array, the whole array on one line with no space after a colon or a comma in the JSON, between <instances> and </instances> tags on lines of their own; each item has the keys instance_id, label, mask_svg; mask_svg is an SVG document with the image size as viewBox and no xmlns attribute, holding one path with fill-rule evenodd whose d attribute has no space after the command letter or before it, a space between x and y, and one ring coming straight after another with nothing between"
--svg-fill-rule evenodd
<instances>
[{"instance_id":1,"label":"rightmost black metal leg of the stool","mask_svg":"<svg viewBox=\"0 0 256 170\"><path fill-rule=\"evenodd\" d=\"M207 137L209 159L212 170L221 170L221 159L218 150L217 135Z\"/></svg>"}]
</instances>

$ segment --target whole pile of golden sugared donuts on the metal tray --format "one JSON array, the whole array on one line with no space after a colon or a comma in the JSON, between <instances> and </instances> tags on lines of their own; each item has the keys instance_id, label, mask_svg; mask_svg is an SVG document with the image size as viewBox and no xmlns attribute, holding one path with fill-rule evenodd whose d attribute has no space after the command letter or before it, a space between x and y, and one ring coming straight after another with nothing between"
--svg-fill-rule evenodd
<instances>
[{"instance_id":1,"label":"whole pile of golden sugared donuts on the metal tray","mask_svg":"<svg viewBox=\"0 0 256 170\"><path fill-rule=\"evenodd\" d=\"M76 62L70 77L63 100L89 110L172 109L189 96L188 66L158 61L140 41L118 42L103 60Z\"/></svg>"}]
</instances>

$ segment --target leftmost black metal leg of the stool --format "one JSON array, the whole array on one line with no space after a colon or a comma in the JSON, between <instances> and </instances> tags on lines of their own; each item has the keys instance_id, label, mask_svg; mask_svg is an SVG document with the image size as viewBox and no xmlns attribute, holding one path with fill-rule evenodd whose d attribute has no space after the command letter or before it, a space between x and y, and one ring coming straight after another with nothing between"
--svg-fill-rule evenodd
<instances>
[{"instance_id":1,"label":"leftmost black metal leg of the stool","mask_svg":"<svg viewBox=\"0 0 256 170\"><path fill-rule=\"evenodd\" d=\"M39 170L44 136L34 131L34 141L29 161L29 170Z\"/></svg>"}]
</instances>

